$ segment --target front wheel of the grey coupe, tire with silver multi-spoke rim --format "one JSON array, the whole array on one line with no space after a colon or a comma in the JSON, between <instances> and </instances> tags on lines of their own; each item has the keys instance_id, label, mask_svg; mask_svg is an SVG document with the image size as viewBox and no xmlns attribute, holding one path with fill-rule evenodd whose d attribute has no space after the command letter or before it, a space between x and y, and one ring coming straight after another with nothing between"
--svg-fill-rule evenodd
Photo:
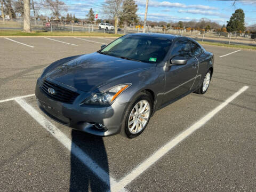
<instances>
[{"instance_id":1,"label":"front wheel of the grey coupe, tire with silver multi-spoke rim","mask_svg":"<svg viewBox=\"0 0 256 192\"><path fill-rule=\"evenodd\" d=\"M138 94L125 112L122 131L125 132L126 137L138 137L148 125L152 111L153 99L151 96L143 92Z\"/></svg>"}]
</instances>

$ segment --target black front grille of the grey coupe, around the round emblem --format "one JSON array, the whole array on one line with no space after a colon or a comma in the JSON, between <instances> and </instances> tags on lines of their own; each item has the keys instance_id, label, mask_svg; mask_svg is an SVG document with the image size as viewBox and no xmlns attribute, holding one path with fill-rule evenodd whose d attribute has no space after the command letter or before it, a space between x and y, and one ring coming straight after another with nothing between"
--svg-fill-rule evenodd
<instances>
[{"instance_id":1,"label":"black front grille of the grey coupe, around the round emblem","mask_svg":"<svg viewBox=\"0 0 256 192\"><path fill-rule=\"evenodd\" d=\"M61 101L61 102L65 102L65 103L73 103L74 100L76 99L76 97L79 95L78 93L74 92L74 91L70 91L64 87L61 87L60 85L57 85L53 82L50 82L48 80L44 80L42 85L41 85L41 90L43 91L44 94L46 94L48 97L57 100L57 101ZM50 94L48 92L48 89L52 88L55 90L55 94Z\"/></svg>"}]
</instances>

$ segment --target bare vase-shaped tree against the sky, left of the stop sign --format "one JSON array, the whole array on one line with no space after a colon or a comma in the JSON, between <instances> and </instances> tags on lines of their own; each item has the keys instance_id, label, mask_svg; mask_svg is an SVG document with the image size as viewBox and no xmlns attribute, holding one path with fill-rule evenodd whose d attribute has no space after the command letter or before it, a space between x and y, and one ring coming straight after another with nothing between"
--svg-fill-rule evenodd
<instances>
[{"instance_id":1,"label":"bare vase-shaped tree against the sky, left of the stop sign","mask_svg":"<svg viewBox=\"0 0 256 192\"><path fill-rule=\"evenodd\" d=\"M52 11L54 17L59 20L62 11L67 11L66 4L59 0L45 0L44 6Z\"/></svg>"}]
</instances>

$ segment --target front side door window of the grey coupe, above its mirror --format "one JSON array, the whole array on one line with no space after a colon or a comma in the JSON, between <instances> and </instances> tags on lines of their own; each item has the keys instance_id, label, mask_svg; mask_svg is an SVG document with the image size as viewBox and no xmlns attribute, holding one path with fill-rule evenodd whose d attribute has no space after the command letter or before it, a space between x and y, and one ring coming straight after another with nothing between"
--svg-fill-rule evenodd
<instances>
[{"instance_id":1,"label":"front side door window of the grey coupe, above its mirror","mask_svg":"<svg viewBox=\"0 0 256 192\"><path fill-rule=\"evenodd\" d=\"M172 56L179 56L184 58L191 57L191 42L188 39L181 39L175 43L172 50Z\"/></svg>"}]
</instances>

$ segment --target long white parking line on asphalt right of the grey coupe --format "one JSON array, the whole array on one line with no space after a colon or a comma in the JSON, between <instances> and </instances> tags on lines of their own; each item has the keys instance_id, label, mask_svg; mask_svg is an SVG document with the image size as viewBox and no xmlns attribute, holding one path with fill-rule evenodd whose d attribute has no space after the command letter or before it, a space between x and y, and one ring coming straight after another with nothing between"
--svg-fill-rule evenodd
<instances>
[{"instance_id":1,"label":"long white parking line on asphalt right of the grey coupe","mask_svg":"<svg viewBox=\"0 0 256 192\"><path fill-rule=\"evenodd\" d=\"M132 182L135 178L137 178L141 173L146 171L151 165L157 162L161 157L163 157L166 153L168 153L173 147L175 147L178 143L189 137L192 133L202 127L207 121L209 121L214 115L216 115L221 109L226 107L228 103L233 101L238 95L243 93L248 89L249 86L244 86L236 93L231 95L225 102L221 103L218 107L214 108L210 113L205 115L203 118L199 119L196 123L191 125L188 129L181 132L177 137L173 140L167 142L163 147L158 149L153 155L143 161L140 165L135 167L129 174L127 174L123 179L121 179L116 185L111 186L111 191L119 191L119 189L124 188L130 182Z\"/></svg>"}]
</instances>

